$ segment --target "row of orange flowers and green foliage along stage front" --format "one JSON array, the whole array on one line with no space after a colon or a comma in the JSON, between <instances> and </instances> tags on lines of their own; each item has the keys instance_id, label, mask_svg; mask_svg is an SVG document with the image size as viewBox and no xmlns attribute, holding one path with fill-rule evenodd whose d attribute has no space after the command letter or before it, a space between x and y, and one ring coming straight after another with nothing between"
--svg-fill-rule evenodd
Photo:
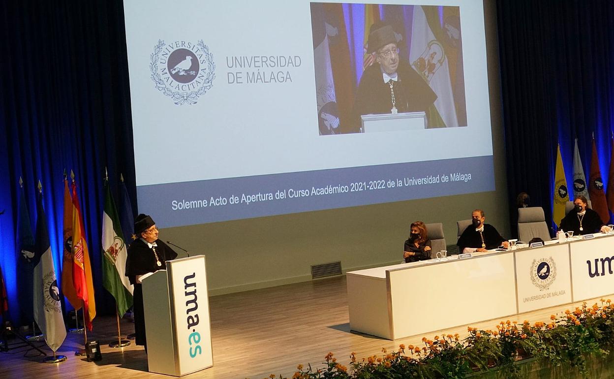
<instances>
[{"instance_id":1,"label":"row of orange flowers and green foliage along stage front","mask_svg":"<svg viewBox=\"0 0 614 379\"><path fill-rule=\"evenodd\" d=\"M614 304L604 299L600 306L583 303L550 319L547 324L501 321L497 330L468 327L468 335L462 340L458 334L436 335L432 340L424 337L424 346L400 345L392 352L382 349L381 357L358 360L352 353L349 369L328 353L323 368L298 365L292 379L461 379L493 368L505 378L519 378L515 363L528 358L554 367L569 365L588 378L586 357L607 356L614 343ZM281 375L278 378L287 379Z\"/></svg>"}]
</instances>

